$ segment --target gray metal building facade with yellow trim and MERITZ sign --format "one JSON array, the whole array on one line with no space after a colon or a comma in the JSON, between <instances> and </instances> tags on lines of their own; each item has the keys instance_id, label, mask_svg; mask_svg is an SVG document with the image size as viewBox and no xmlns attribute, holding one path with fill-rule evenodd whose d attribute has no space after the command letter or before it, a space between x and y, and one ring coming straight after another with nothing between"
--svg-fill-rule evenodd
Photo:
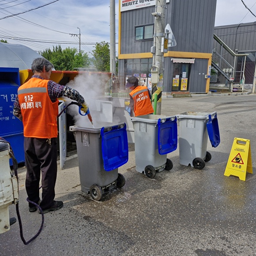
<instances>
[{"instance_id":1,"label":"gray metal building facade with yellow trim and MERITZ sign","mask_svg":"<svg viewBox=\"0 0 256 256\"><path fill-rule=\"evenodd\" d=\"M127 0L120 0L120 6L123 2ZM149 0L137 2L142 4ZM215 11L216 0L166 1L166 24L171 26L177 45L169 47L168 52L164 54L163 91L173 91L174 69L177 66L174 64L175 59L177 62L184 63L185 72L183 73L188 76L189 71L186 91L208 92L210 79L206 79L205 75L208 75L209 66L211 66ZM137 74L140 72L150 75L149 70L146 72L146 67L152 64L153 38L136 40L135 34L138 26L154 25L153 12L155 12L155 6L119 11L119 77L123 84L125 76L134 75L132 70ZM143 70L138 71L139 65ZM180 71L182 73L182 68Z\"/></svg>"}]
</instances>

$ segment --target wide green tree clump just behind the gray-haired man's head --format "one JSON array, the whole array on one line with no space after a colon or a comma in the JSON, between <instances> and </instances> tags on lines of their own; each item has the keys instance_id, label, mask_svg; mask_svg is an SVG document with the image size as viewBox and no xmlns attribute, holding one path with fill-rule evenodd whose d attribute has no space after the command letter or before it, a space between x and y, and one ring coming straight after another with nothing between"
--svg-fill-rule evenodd
<instances>
[{"instance_id":1,"label":"wide green tree clump just behind the gray-haired man's head","mask_svg":"<svg viewBox=\"0 0 256 256\"><path fill-rule=\"evenodd\" d=\"M76 48L61 49L61 46L53 46L53 50L46 49L39 52L41 56L49 60L56 70L74 70L74 68L87 68L90 65L90 60L87 53Z\"/></svg>"}]
</instances>

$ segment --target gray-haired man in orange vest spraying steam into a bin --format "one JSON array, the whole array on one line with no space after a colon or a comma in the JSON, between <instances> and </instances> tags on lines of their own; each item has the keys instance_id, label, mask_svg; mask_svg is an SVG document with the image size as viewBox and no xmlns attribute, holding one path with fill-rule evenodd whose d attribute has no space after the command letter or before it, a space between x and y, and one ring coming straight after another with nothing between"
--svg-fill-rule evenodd
<instances>
[{"instance_id":1,"label":"gray-haired man in orange vest spraying steam into a bin","mask_svg":"<svg viewBox=\"0 0 256 256\"><path fill-rule=\"evenodd\" d=\"M43 213L59 210L62 201L55 201L57 178L57 115L58 98L66 96L88 106L78 91L50 80L53 64L45 58L36 58L31 66L32 75L18 88L13 115L23 122L24 152L26 164L26 192L31 202L40 203ZM41 177L42 200L39 197ZM29 211L37 207L29 202ZM39 211L39 213L41 213Z\"/></svg>"}]
</instances>

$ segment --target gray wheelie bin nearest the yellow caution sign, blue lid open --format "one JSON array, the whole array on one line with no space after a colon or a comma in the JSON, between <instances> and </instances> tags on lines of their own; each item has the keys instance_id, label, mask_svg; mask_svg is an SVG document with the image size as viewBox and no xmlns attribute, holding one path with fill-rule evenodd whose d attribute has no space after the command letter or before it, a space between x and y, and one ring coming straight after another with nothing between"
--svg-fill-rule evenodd
<instances>
[{"instance_id":1,"label":"gray wheelie bin nearest the yellow caution sign, blue lid open","mask_svg":"<svg viewBox=\"0 0 256 256\"><path fill-rule=\"evenodd\" d=\"M208 136L212 147L220 143L217 113L184 112L176 117L179 122L180 164L203 169L205 162L211 160L207 151Z\"/></svg>"}]
</instances>

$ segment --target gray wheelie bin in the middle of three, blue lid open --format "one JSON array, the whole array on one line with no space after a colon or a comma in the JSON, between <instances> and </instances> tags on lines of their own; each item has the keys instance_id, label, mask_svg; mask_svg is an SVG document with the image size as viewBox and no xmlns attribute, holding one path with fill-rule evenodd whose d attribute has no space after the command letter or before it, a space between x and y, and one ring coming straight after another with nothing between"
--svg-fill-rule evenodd
<instances>
[{"instance_id":1,"label":"gray wheelie bin in the middle of three, blue lid open","mask_svg":"<svg viewBox=\"0 0 256 256\"><path fill-rule=\"evenodd\" d=\"M177 149L177 118L161 115L131 117L134 125L136 171L153 178L173 168L167 154Z\"/></svg>"}]
</instances>

